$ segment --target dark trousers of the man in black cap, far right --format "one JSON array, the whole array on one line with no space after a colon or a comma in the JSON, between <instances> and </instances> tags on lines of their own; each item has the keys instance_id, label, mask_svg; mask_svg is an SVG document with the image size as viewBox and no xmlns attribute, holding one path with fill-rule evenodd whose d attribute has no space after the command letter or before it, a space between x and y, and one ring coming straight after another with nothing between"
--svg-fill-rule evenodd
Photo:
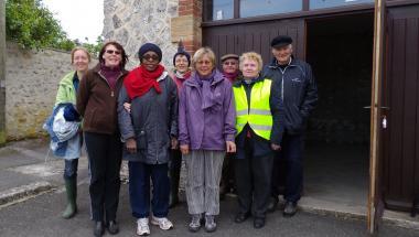
<instances>
[{"instance_id":1,"label":"dark trousers of the man in black cap, far right","mask_svg":"<svg viewBox=\"0 0 419 237\"><path fill-rule=\"evenodd\" d=\"M272 170L272 196L278 196L280 193L281 171L284 171L284 200L297 203L301 198L303 147L302 134L288 134L287 132L283 134L281 151L276 153ZM283 165L286 165L286 169L283 169Z\"/></svg>"}]
</instances>

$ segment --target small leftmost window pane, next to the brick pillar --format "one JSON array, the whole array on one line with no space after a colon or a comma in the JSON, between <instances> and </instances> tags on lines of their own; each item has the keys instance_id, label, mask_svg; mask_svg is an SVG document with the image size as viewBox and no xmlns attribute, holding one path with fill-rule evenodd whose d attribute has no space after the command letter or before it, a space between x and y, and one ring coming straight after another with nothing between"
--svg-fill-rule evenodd
<instances>
[{"instance_id":1,"label":"small leftmost window pane, next to the brick pillar","mask_svg":"<svg viewBox=\"0 0 419 237\"><path fill-rule=\"evenodd\" d=\"M210 21L232 19L234 17L234 0L206 1Z\"/></svg>"}]
</instances>

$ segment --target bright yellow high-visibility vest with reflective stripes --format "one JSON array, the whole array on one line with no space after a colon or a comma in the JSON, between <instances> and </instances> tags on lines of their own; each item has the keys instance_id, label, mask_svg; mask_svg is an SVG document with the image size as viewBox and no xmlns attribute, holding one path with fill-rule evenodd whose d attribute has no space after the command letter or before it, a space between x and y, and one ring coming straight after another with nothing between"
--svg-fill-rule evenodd
<instances>
[{"instance_id":1,"label":"bright yellow high-visibility vest with reflective stripes","mask_svg":"<svg viewBox=\"0 0 419 237\"><path fill-rule=\"evenodd\" d=\"M272 114L270 112L269 97L272 80L264 79L251 87L250 108L247 103L244 85L234 86L233 93L236 100L236 129L239 134L246 123L256 134L270 140L272 130Z\"/></svg>"}]
</instances>

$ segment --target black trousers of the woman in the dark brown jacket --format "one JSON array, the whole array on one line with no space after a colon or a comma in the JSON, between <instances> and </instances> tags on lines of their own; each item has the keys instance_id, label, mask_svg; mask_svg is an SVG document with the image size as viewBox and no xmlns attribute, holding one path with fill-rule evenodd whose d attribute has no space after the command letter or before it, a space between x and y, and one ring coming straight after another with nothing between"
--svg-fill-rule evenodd
<instances>
[{"instance_id":1,"label":"black trousers of the woman in the dark brown jacket","mask_svg":"<svg viewBox=\"0 0 419 237\"><path fill-rule=\"evenodd\" d=\"M117 134L94 132L85 132L85 140L92 174L89 192L93 220L115 220L119 203L122 143Z\"/></svg>"}]
</instances>

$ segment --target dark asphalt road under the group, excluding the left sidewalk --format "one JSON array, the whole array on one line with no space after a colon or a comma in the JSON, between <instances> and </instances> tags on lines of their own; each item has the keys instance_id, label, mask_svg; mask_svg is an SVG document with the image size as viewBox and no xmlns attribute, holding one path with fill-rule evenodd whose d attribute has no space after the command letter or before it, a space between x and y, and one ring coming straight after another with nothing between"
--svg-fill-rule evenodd
<instances>
[{"instance_id":1,"label":"dark asphalt road under the group, excluding the left sidewalk","mask_svg":"<svg viewBox=\"0 0 419 237\"><path fill-rule=\"evenodd\" d=\"M0 209L0 236L92 236L92 222L89 220L88 186L79 186L79 214L69 220L61 218L64 195L54 192L40 195L12 206ZM135 236L136 223L130 215L128 188L122 185L120 192L120 207L118 220L121 231L118 236ZM283 218L278 211L268 216L267 225L260 230L253 228L249 219L243 224L235 224L233 219L236 207L234 197L222 202L222 214L218 218L218 229L215 234L201 230L197 234L187 231L189 222L186 205L182 203L170 213L175 228L163 231L151 228L153 236L367 236L365 222L337 219L331 216L298 213L293 218ZM109 234L107 234L109 236ZM379 236L419 236L418 230L404 229L394 226L384 226Z\"/></svg>"}]
</instances>

